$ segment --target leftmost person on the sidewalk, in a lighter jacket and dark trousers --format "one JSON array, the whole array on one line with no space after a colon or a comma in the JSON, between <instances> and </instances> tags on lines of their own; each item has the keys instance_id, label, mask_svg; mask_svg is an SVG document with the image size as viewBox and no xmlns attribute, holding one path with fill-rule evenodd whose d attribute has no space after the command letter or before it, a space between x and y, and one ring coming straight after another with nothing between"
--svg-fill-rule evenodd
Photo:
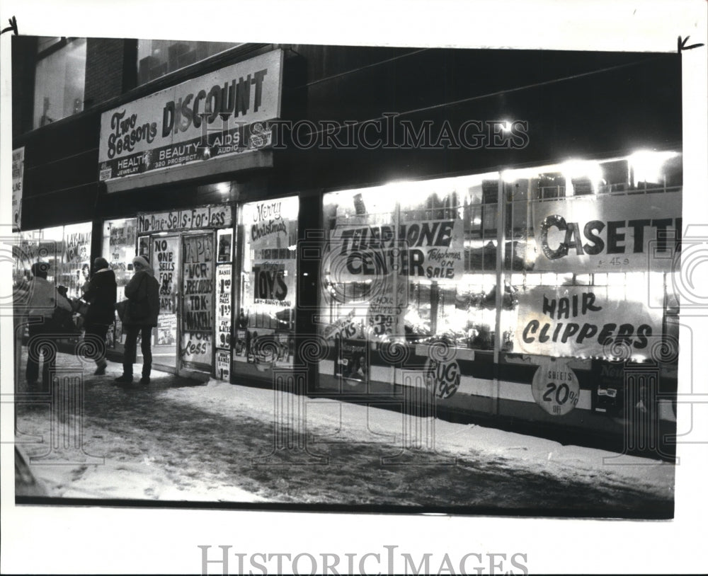
<instances>
[{"instance_id":1,"label":"leftmost person on the sidewalk, in a lighter jacket and dark trousers","mask_svg":"<svg viewBox=\"0 0 708 576\"><path fill-rule=\"evenodd\" d=\"M71 316L72 304L64 298L57 287L47 280L50 265L45 262L34 263L31 267L32 280L26 287L28 299L25 304L28 316L41 317L41 323L32 323L28 326L30 339L27 347L27 368L25 378L27 383L36 384L39 378L40 355L42 362L42 385L49 388L50 373L55 369L57 361L56 346L51 340L55 338L58 324L55 321L58 313Z\"/></svg>"}]
</instances>

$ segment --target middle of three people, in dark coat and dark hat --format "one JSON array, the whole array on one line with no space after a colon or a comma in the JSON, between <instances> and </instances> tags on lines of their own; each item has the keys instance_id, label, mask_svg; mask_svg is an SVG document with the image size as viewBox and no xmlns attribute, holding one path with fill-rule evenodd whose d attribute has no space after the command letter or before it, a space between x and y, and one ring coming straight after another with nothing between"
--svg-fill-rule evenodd
<instances>
[{"instance_id":1,"label":"middle of three people, in dark coat and dark hat","mask_svg":"<svg viewBox=\"0 0 708 576\"><path fill-rule=\"evenodd\" d=\"M93 261L93 276L84 284L84 295L89 303L89 310L84 318L85 338L95 352L91 357L96 361L94 374L105 374L105 335L108 327L115 320L115 298L118 286L115 284L115 272L110 269L108 260L96 258Z\"/></svg>"}]
</instances>

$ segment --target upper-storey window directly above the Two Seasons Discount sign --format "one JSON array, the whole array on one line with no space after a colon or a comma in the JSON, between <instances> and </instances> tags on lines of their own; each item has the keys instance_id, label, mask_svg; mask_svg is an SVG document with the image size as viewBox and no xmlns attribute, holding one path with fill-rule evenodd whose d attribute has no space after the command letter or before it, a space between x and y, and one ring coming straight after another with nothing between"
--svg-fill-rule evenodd
<instances>
[{"instance_id":1,"label":"upper-storey window directly above the Two Seasons Discount sign","mask_svg":"<svg viewBox=\"0 0 708 576\"><path fill-rule=\"evenodd\" d=\"M238 44L186 40L138 40L138 83L147 83L234 46Z\"/></svg>"}]
</instances>

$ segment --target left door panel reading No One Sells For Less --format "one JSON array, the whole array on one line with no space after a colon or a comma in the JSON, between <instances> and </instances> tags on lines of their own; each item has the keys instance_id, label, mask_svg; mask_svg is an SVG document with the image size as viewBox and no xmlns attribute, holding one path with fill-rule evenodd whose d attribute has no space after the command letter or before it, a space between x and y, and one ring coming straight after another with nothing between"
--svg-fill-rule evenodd
<instances>
[{"instance_id":1,"label":"left door panel reading No One Sells For Less","mask_svg":"<svg viewBox=\"0 0 708 576\"><path fill-rule=\"evenodd\" d=\"M152 362L158 369L177 368L180 236L152 236L151 261L160 289L160 315L153 330Z\"/></svg>"}]
</instances>

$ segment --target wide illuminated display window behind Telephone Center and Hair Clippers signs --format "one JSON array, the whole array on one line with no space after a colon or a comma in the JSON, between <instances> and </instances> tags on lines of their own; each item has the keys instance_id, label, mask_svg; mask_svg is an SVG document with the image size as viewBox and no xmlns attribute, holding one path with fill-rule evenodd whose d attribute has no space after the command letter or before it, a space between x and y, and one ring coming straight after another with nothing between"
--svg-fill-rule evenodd
<instances>
[{"instance_id":1,"label":"wide illuminated display window behind Telephone Center and Hair Clippers signs","mask_svg":"<svg viewBox=\"0 0 708 576\"><path fill-rule=\"evenodd\" d=\"M347 350L443 340L646 357L676 301L675 239L661 238L680 227L677 167L659 153L326 194L321 333ZM633 173L651 187L637 190Z\"/></svg>"}]
</instances>

